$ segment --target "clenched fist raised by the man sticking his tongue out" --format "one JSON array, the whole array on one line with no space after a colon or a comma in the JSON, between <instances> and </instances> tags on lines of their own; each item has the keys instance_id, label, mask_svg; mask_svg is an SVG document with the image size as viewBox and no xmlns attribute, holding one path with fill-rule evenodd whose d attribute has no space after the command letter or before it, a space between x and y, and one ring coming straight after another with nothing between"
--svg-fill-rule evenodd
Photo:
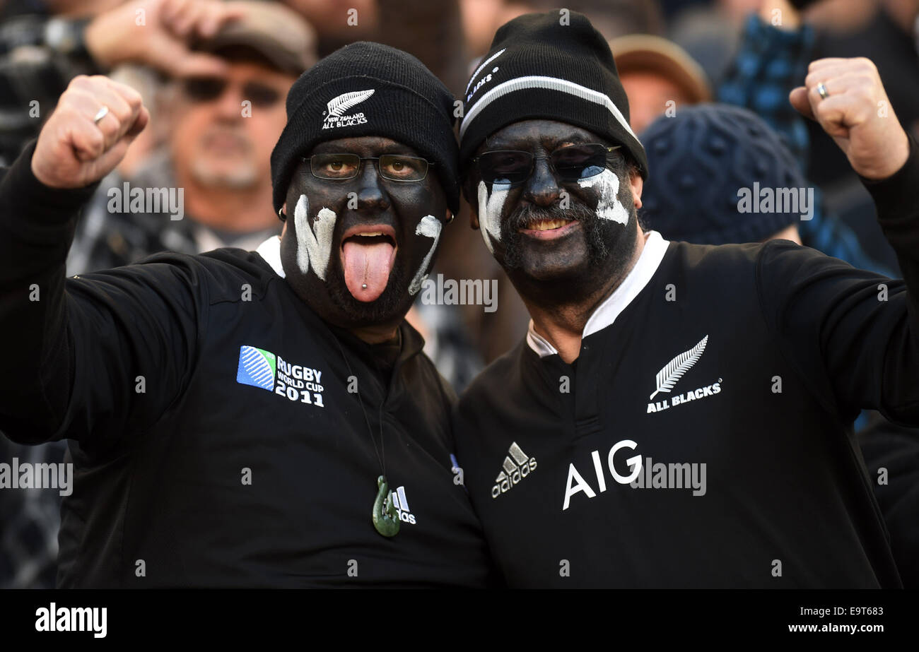
<instances>
[{"instance_id":1,"label":"clenched fist raised by the man sticking his tongue out","mask_svg":"<svg viewBox=\"0 0 919 652\"><path fill-rule=\"evenodd\" d=\"M96 121L103 107L108 112ZM118 165L149 121L141 95L130 86L103 76L74 77L41 128L32 174L53 188L93 184Z\"/></svg>"}]
</instances>

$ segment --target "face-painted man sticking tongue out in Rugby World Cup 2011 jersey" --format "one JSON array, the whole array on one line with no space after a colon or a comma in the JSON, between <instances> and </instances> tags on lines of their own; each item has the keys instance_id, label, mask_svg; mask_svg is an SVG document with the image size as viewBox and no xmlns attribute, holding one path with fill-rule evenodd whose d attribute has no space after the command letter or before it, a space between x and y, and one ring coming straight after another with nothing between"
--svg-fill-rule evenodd
<instances>
[{"instance_id":1,"label":"face-painted man sticking tongue out in Rugby World Cup 2011 jersey","mask_svg":"<svg viewBox=\"0 0 919 652\"><path fill-rule=\"evenodd\" d=\"M459 208L453 97L355 43L287 113L284 230L257 252L64 278L76 213L148 120L104 77L0 181L0 427L68 438L62 587L491 583L453 395L404 320Z\"/></svg>"}]
</instances>

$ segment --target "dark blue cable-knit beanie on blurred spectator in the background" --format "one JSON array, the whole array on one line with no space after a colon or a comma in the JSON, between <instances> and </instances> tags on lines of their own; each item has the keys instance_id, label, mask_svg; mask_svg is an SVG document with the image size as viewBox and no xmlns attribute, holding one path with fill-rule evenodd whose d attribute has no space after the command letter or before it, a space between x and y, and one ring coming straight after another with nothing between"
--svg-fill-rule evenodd
<instances>
[{"instance_id":1,"label":"dark blue cable-knit beanie on blurred spectator in the background","mask_svg":"<svg viewBox=\"0 0 919 652\"><path fill-rule=\"evenodd\" d=\"M739 192L747 188L753 195L754 184L773 190L808 187L778 134L752 111L720 104L681 108L673 118L657 118L641 140L654 175L641 191L640 216L664 238L761 242L800 220L800 211L738 208Z\"/></svg>"}]
</instances>

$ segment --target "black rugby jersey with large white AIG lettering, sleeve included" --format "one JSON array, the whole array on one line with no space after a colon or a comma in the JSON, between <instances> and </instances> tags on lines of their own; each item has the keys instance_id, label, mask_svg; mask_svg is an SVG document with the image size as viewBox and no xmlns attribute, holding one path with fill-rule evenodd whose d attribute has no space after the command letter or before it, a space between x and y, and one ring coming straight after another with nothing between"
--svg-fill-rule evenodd
<instances>
[{"instance_id":1,"label":"black rugby jersey with large white AIG lettering, sleeve included","mask_svg":"<svg viewBox=\"0 0 919 652\"><path fill-rule=\"evenodd\" d=\"M866 185L905 283L652 232L576 364L531 330L473 381L459 464L512 587L901 585L851 424L919 424L915 143Z\"/></svg>"}]
</instances>

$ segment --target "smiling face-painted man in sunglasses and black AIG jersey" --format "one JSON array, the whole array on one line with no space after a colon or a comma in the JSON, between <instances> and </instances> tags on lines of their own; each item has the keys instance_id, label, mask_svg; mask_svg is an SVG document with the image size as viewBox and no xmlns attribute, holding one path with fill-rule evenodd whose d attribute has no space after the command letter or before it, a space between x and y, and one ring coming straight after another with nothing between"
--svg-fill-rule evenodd
<instances>
[{"instance_id":1,"label":"smiling face-painted man in sunglasses and black AIG jersey","mask_svg":"<svg viewBox=\"0 0 919 652\"><path fill-rule=\"evenodd\" d=\"M643 230L645 152L583 16L516 18L472 74L464 193L532 320L459 399L454 431L510 586L901 586L852 421L864 407L919 423L919 148L879 115L871 62L813 62L805 84L792 104L861 175L905 283L787 241ZM699 190L720 174L735 171L677 187L706 197L698 210L743 210L751 188ZM775 208L806 189L771 190Z\"/></svg>"}]
</instances>

